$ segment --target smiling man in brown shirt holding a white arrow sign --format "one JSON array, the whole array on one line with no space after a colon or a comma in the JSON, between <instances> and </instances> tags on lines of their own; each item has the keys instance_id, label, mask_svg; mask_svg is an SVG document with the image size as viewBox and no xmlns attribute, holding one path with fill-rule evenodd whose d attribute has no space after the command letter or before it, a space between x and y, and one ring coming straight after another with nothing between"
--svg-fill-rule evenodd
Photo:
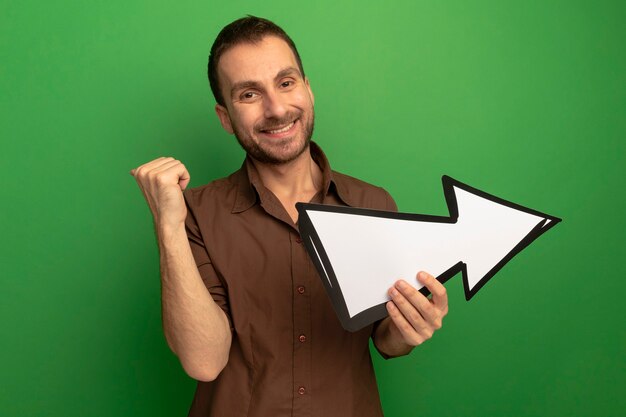
<instances>
[{"instance_id":1,"label":"smiling man in brown shirt holding a white arrow sign","mask_svg":"<svg viewBox=\"0 0 626 417\"><path fill-rule=\"evenodd\" d=\"M381 188L331 171L313 142L314 96L295 45L274 23L239 19L209 57L215 110L247 153L228 178L186 190L184 165L131 171L157 229L163 327L199 381L191 416L381 416L369 338L407 354L441 327L445 288L399 280L389 317L341 328L298 234L299 201L395 210Z\"/></svg>"}]
</instances>

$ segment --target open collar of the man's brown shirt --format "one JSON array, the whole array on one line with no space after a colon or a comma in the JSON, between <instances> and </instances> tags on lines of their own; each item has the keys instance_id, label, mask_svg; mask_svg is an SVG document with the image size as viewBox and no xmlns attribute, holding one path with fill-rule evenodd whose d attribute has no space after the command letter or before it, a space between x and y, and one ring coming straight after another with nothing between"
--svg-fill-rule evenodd
<instances>
[{"instance_id":1,"label":"open collar of the man's brown shirt","mask_svg":"<svg viewBox=\"0 0 626 417\"><path fill-rule=\"evenodd\" d=\"M353 207L354 203L349 189L341 177L333 175L326 155L315 142L310 145L311 157L322 170L322 201L326 196L334 193L344 204ZM237 196L233 205L233 213L241 213L254 206L263 193L268 190L263 186L259 172L257 171L250 156L241 165L241 169L234 175L237 187Z\"/></svg>"}]
</instances>

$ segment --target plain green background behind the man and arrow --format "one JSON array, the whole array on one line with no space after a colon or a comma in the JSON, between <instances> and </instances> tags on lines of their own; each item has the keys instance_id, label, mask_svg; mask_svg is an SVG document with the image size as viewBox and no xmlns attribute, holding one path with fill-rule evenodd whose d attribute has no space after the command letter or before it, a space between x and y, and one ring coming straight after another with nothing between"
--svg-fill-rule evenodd
<instances>
[{"instance_id":1,"label":"plain green background behind the man and arrow","mask_svg":"<svg viewBox=\"0 0 626 417\"><path fill-rule=\"evenodd\" d=\"M449 281L412 355L374 354L386 415L624 415L624 4L1 0L0 414L186 414L128 171L239 167L205 68L251 13L298 44L335 169L402 211L446 215L447 174L564 219L471 302Z\"/></svg>"}]
</instances>

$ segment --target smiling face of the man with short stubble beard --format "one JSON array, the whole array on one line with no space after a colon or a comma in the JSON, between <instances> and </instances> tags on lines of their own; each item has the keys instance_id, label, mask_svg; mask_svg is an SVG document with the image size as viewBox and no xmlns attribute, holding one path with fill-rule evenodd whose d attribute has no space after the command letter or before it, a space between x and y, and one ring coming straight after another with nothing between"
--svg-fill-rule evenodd
<instances>
[{"instance_id":1,"label":"smiling face of the man with short stubble beard","mask_svg":"<svg viewBox=\"0 0 626 417\"><path fill-rule=\"evenodd\" d=\"M215 110L226 131L259 162L293 161L313 134L313 93L289 45L266 36L227 50L218 63L225 106Z\"/></svg>"}]
</instances>

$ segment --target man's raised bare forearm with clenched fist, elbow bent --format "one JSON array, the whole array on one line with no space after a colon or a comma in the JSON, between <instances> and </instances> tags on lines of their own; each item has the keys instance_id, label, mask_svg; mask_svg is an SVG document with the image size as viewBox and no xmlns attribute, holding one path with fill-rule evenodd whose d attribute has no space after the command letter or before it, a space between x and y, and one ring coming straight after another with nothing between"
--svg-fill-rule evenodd
<instances>
[{"instance_id":1,"label":"man's raised bare forearm with clenched fist, elbow bent","mask_svg":"<svg viewBox=\"0 0 626 417\"><path fill-rule=\"evenodd\" d=\"M202 282L185 232L189 172L180 161L158 158L130 173L154 217L167 343L189 376L213 380L226 366L232 336L226 314Z\"/></svg>"}]
</instances>

